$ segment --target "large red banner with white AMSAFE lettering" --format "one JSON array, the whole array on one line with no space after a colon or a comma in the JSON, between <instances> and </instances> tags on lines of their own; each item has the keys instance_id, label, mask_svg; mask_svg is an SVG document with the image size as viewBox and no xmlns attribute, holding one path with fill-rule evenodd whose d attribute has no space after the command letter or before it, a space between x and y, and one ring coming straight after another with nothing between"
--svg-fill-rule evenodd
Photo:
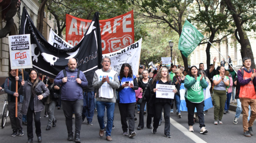
<instances>
[{"instance_id":1,"label":"large red banner with white AMSAFE lettering","mask_svg":"<svg viewBox=\"0 0 256 143\"><path fill-rule=\"evenodd\" d=\"M66 41L75 46L84 36L92 20L66 14ZM102 54L112 53L134 43L133 10L108 20L99 20Z\"/></svg>"}]
</instances>

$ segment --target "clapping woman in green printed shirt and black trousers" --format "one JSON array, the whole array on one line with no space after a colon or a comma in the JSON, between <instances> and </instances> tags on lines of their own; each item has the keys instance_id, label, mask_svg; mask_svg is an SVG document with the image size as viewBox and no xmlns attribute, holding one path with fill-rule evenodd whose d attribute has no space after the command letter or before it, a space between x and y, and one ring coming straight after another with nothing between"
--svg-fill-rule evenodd
<instances>
[{"instance_id":1,"label":"clapping woman in green printed shirt and black trousers","mask_svg":"<svg viewBox=\"0 0 256 143\"><path fill-rule=\"evenodd\" d=\"M186 107L188 108L188 119L189 119L189 132L194 132L194 113L195 108L197 110L200 134L207 133L204 125L204 88L207 88L207 83L204 79L204 74L199 75L196 66L190 68L189 74L186 75L184 86L187 88L185 93Z\"/></svg>"}]
</instances>

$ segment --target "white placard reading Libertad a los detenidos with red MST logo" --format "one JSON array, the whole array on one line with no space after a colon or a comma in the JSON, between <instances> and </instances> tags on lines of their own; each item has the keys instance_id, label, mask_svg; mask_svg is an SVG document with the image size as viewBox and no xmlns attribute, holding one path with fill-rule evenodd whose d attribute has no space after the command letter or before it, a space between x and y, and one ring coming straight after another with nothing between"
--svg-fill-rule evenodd
<instances>
[{"instance_id":1,"label":"white placard reading Libertad a los detenidos with red MST logo","mask_svg":"<svg viewBox=\"0 0 256 143\"><path fill-rule=\"evenodd\" d=\"M32 68L30 34L9 36L11 69Z\"/></svg>"}]
</instances>

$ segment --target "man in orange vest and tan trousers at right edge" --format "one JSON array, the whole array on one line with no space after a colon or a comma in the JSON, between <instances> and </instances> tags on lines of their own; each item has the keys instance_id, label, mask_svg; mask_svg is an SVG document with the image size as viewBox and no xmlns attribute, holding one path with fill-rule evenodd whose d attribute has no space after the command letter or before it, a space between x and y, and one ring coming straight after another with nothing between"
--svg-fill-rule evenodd
<instances>
[{"instance_id":1,"label":"man in orange vest and tan trousers at right edge","mask_svg":"<svg viewBox=\"0 0 256 143\"><path fill-rule=\"evenodd\" d=\"M238 82L240 84L239 99L241 100L241 107L243 109L243 128L244 136L251 137L253 135L253 122L256 118L256 73L255 69L251 69L251 59L249 57L243 58L244 74L241 70L237 72ZM249 105L251 107L253 115L250 121L247 121Z\"/></svg>"}]
</instances>

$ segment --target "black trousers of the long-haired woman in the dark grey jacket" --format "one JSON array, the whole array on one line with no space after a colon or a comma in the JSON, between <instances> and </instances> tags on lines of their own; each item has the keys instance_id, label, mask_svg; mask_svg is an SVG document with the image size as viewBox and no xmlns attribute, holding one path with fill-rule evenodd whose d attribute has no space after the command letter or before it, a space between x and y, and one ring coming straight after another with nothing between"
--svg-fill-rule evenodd
<instances>
[{"instance_id":1,"label":"black trousers of the long-haired woman in the dark grey jacket","mask_svg":"<svg viewBox=\"0 0 256 143\"><path fill-rule=\"evenodd\" d=\"M33 140L33 115L34 115L34 121L35 121L35 134L36 136L41 136L41 112L35 112L35 110L28 109L27 112L27 135L29 139Z\"/></svg>"}]
</instances>

